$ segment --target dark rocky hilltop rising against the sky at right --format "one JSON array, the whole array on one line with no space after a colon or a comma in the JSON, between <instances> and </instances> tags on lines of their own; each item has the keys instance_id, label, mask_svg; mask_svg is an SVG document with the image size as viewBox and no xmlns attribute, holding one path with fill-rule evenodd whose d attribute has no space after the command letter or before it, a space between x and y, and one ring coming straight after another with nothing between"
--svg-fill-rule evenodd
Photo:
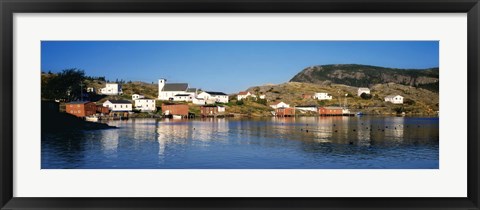
<instances>
[{"instance_id":1,"label":"dark rocky hilltop rising against the sky at right","mask_svg":"<svg viewBox=\"0 0 480 210\"><path fill-rule=\"evenodd\" d=\"M372 87L396 83L438 92L439 69L396 69L359 64L318 65L303 69L290 82Z\"/></svg>"}]
</instances>

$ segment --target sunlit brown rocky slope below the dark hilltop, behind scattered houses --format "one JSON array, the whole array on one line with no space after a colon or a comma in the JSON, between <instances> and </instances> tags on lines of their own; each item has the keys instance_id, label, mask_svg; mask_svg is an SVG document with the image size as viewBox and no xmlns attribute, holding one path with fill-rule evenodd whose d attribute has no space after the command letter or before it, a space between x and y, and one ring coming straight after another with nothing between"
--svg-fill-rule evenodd
<instances>
[{"instance_id":1,"label":"sunlit brown rocky slope below the dark hilltop, behind scattered houses","mask_svg":"<svg viewBox=\"0 0 480 210\"><path fill-rule=\"evenodd\" d=\"M370 114L392 114L400 110L407 114L435 115L439 109L438 93L423 88L387 83L372 85L370 89L373 96L371 99L358 97L357 87L342 84L287 82L279 85L255 86L248 88L247 91L257 95L265 94L269 103L283 101L292 106L346 106L353 111ZM329 93L333 99L318 101L302 97L302 94L313 95L317 92ZM404 96L404 104L395 105L385 102L385 96L392 94Z\"/></svg>"}]
</instances>

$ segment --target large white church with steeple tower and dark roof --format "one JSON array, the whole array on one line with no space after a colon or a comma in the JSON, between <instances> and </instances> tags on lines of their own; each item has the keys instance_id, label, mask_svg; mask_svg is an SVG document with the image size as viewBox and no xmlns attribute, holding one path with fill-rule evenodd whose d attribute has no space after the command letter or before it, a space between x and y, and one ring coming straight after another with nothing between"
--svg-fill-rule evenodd
<instances>
[{"instance_id":1,"label":"large white church with steeple tower and dark roof","mask_svg":"<svg viewBox=\"0 0 480 210\"><path fill-rule=\"evenodd\" d=\"M158 80L158 99L170 101L192 101L196 97L196 88L188 88L188 83L166 83L166 79ZM188 97L185 95L189 95Z\"/></svg>"}]
</instances>

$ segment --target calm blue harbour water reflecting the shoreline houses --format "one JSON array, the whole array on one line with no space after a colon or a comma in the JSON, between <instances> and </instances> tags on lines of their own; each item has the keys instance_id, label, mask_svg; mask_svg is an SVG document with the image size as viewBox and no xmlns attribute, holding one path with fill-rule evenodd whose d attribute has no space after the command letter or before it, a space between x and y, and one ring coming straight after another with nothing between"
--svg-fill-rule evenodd
<instances>
[{"instance_id":1,"label":"calm blue harbour water reflecting the shoreline houses","mask_svg":"<svg viewBox=\"0 0 480 210\"><path fill-rule=\"evenodd\" d=\"M132 119L42 134L42 168L436 169L438 118ZM308 132L307 132L308 130Z\"/></svg>"}]
</instances>

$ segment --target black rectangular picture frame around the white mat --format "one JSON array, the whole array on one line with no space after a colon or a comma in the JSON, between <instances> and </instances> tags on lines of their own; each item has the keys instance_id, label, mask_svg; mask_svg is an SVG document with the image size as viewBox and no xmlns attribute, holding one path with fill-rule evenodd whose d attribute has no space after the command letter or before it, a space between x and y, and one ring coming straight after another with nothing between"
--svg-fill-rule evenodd
<instances>
[{"instance_id":1,"label":"black rectangular picture frame around the white mat","mask_svg":"<svg viewBox=\"0 0 480 210\"><path fill-rule=\"evenodd\" d=\"M478 0L0 0L1 209L479 209ZM468 196L466 198L16 198L13 182L14 13L467 13ZM128 190L128 189L126 189Z\"/></svg>"}]
</instances>

